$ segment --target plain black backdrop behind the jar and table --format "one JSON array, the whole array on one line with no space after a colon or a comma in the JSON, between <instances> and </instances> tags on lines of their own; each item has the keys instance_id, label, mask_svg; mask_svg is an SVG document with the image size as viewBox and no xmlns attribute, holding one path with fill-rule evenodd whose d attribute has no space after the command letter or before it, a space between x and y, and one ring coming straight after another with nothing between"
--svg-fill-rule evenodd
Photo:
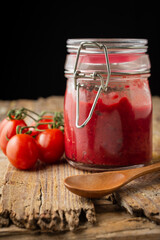
<instances>
[{"instance_id":1,"label":"plain black backdrop behind the jar and table","mask_svg":"<svg viewBox=\"0 0 160 240\"><path fill-rule=\"evenodd\" d=\"M160 95L159 6L119 2L1 5L0 99L64 95L66 40L94 37L148 39L151 93Z\"/></svg>"}]
</instances>

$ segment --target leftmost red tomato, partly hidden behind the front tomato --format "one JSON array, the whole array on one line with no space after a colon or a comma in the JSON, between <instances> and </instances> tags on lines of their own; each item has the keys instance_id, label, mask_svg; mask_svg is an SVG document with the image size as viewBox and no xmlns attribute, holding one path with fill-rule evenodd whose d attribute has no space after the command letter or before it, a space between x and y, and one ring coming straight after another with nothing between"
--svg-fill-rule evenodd
<instances>
[{"instance_id":1,"label":"leftmost red tomato, partly hidden behind the front tomato","mask_svg":"<svg viewBox=\"0 0 160 240\"><path fill-rule=\"evenodd\" d=\"M16 127L20 125L22 127L27 126L24 120L8 120L2 129L0 135L0 148L2 149L3 153L6 154L6 147L8 144L8 139L11 139L16 134Z\"/></svg>"}]
</instances>

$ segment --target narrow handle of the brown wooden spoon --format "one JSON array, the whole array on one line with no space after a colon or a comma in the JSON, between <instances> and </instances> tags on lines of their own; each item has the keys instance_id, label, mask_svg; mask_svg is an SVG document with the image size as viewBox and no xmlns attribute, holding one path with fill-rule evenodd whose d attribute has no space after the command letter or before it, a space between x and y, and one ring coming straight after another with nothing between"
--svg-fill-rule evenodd
<instances>
[{"instance_id":1,"label":"narrow handle of the brown wooden spoon","mask_svg":"<svg viewBox=\"0 0 160 240\"><path fill-rule=\"evenodd\" d=\"M133 180L133 179L135 179L137 177L141 177L147 173L152 173L152 172L156 172L156 171L160 171L160 162L154 163L154 164L151 164L151 165L148 165L145 167L128 170L128 177L130 177Z\"/></svg>"}]
</instances>

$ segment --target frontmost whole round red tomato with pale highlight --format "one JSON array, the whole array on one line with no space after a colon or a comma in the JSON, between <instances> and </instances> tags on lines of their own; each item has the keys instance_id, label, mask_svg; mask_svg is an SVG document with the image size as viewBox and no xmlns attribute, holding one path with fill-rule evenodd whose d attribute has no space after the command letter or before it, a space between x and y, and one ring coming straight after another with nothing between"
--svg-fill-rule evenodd
<instances>
[{"instance_id":1,"label":"frontmost whole round red tomato with pale highlight","mask_svg":"<svg viewBox=\"0 0 160 240\"><path fill-rule=\"evenodd\" d=\"M38 159L38 147L30 135L16 134L9 140L6 154L14 167L27 170L32 168Z\"/></svg>"}]
</instances>

